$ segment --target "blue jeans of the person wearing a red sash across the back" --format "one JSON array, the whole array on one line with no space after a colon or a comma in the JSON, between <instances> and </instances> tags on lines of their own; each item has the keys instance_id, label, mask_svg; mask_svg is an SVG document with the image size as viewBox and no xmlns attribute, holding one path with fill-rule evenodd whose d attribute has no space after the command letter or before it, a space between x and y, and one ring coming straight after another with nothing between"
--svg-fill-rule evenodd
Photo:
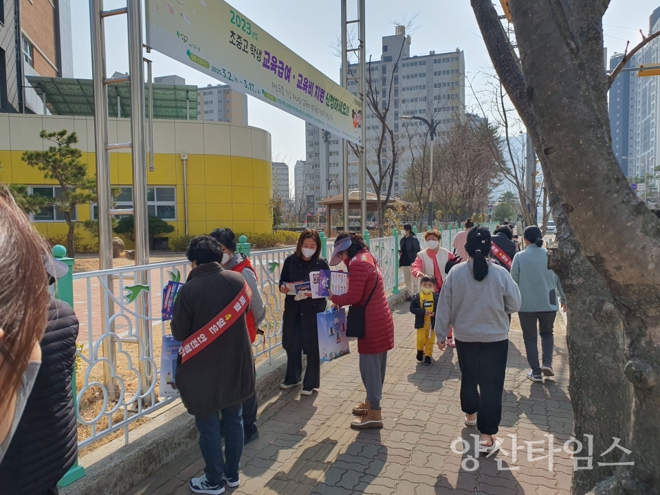
<instances>
[{"instance_id":1,"label":"blue jeans of the person wearing a red sash across the back","mask_svg":"<svg viewBox=\"0 0 660 495\"><path fill-rule=\"evenodd\" d=\"M222 474L228 478L239 473L239 461L243 454L243 417L241 404L221 409L208 416L195 416L199 430L199 448L206 467L204 474L212 485L222 483ZM225 456L222 455L220 417L225 430Z\"/></svg>"}]
</instances>

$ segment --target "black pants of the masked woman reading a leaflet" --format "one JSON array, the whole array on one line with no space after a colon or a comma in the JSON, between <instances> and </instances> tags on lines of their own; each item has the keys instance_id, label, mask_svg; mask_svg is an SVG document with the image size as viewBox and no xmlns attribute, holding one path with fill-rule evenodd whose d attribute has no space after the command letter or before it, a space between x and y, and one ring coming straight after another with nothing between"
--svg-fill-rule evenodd
<instances>
[{"instance_id":1,"label":"black pants of the masked woman reading a leaflet","mask_svg":"<svg viewBox=\"0 0 660 495\"><path fill-rule=\"evenodd\" d=\"M303 380L303 388L311 390L321 386L321 362L318 354L318 335L305 336L303 339L303 325L300 321L300 314L296 316L294 325L289 329L283 329L283 332L289 333L287 338L287 375L284 382L294 384L300 382L303 375L303 353L307 355L307 370ZM316 329L314 329L316 332ZM314 338L316 337L316 338Z\"/></svg>"}]
</instances>

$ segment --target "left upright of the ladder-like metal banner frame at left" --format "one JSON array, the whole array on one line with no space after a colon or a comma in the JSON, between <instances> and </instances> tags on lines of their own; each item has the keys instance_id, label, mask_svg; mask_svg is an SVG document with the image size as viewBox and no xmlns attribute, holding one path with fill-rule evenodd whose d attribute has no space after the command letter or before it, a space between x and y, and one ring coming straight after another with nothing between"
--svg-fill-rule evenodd
<instances>
[{"instance_id":1,"label":"left upright of the ladder-like metal banner frame at left","mask_svg":"<svg viewBox=\"0 0 660 495\"><path fill-rule=\"evenodd\" d=\"M106 145L108 142L108 87L103 84L105 78L105 34L101 12L103 0L89 0L89 23L91 31L91 69L94 84L94 146L96 148L96 204L98 218L98 267L99 270L112 268L112 223L110 220L110 157ZM104 283L109 292L113 292L111 276L104 276ZM114 314L114 305L110 294L100 289L101 325L105 333L109 317ZM107 328L114 333L114 326ZM103 339L102 353L114 364L115 346L110 339ZM103 362L103 384L110 397L116 397L115 382L110 364Z\"/></svg>"}]
</instances>

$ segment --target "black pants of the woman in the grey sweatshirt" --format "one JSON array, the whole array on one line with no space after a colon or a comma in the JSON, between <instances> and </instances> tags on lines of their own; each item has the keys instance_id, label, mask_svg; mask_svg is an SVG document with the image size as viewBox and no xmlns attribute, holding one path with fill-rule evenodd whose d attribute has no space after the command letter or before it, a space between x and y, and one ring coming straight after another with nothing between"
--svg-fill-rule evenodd
<instances>
[{"instance_id":1,"label":"black pants of the woman in the grey sweatshirt","mask_svg":"<svg viewBox=\"0 0 660 495\"><path fill-rule=\"evenodd\" d=\"M496 434L502 419L509 340L455 342L461 366L461 409L465 414L476 412L481 433Z\"/></svg>"}]
</instances>

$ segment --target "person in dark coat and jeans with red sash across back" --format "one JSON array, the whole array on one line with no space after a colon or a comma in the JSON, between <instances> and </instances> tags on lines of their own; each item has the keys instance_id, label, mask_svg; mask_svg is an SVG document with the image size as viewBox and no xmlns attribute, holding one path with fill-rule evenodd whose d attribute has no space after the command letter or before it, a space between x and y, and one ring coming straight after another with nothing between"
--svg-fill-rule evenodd
<instances>
[{"instance_id":1,"label":"person in dark coat and jeans with red sash across back","mask_svg":"<svg viewBox=\"0 0 660 495\"><path fill-rule=\"evenodd\" d=\"M245 311L252 291L241 274L223 270L222 250L210 236L190 241L192 265L179 289L170 327L182 342L175 382L188 413L195 416L204 474L190 490L219 495L239 486L243 453L241 404L254 393L254 358ZM220 421L225 430L223 456Z\"/></svg>"}]
</instances>

